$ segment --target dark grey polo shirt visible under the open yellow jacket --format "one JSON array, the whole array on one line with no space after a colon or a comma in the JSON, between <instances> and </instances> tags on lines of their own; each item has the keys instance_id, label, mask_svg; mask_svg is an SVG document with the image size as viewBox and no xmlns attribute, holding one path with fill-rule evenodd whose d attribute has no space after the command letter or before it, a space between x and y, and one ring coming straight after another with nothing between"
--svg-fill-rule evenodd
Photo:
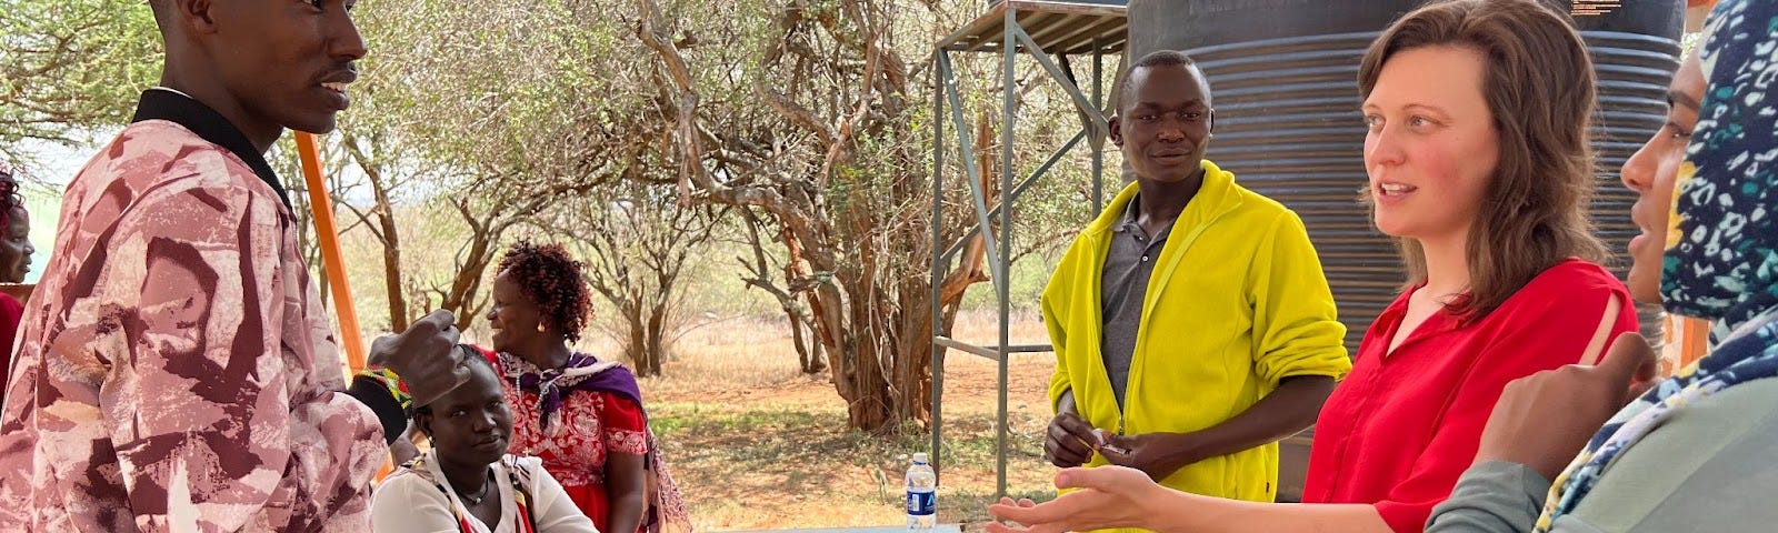
<instances>
[{"instance_id":1,"label":"dark grey polo shirt visible under the open yellow jacket","mask_svg":"<svg viewBox=\"0 0 1778 533\"><path fill-rule=\"evenodd\" d=\"M1173 231L1168 222L1159 235L1150 236L1136 224L1136 210L1141 195L1133 197L1124 208L1124 217L1111 226L1111 249L1106 251L1106 265L1099 274L1099 354L1104 357L1106 375L1111 377L1111 391L1118 409L1124 409L1124 389L1129 386L1129 362L1136 354L1136 330L1141 329L1141 304L1149 293L1149 277L1154 274L1154 261L1161 259L1161 247L1166 235Z\"/></svg>"}]
</instances>

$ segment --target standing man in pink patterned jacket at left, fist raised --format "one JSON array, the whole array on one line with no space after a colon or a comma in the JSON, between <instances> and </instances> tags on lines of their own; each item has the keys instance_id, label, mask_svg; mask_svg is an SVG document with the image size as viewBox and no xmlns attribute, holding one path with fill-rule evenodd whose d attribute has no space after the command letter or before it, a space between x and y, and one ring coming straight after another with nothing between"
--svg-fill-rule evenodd
<instances>
[{"instance_id":1,"label":"standing man in pink patterned jacket at left, fist raised","mask_svg":"<svg viewBox=\"0 0 1778 533\"><path fill-rule=\"evenodd\" d=\"M370 529L404 407L468 368L439 311L377 339L380 370L345 387L265 163L284 128L329 131L348 103L364 43L345 2L149 0L162 87L69 183L25 309L0 529Z\"/></svg>"}]
</instances>

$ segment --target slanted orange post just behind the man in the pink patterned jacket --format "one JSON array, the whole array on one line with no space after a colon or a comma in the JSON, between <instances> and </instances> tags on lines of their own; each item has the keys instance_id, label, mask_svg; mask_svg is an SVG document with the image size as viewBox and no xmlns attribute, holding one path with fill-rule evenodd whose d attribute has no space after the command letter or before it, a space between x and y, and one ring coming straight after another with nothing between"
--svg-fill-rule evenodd
<instances>
[{"instance_id":1,"label":"slanted orange post just behind the man in the pink patterned jacket","mask_svg":"<svg viewBox=\"0 0 1778 533\"><path fill-rule=\"evenodd\" d=\"M327 288L332 291L334 313L340 314L340 345L345 346L352 371L364 370L364 336L357 330L357 309L352 307L352 284L345 279L345 256L340 252L340 229L332 220L332 201L322 181L320 149L315 135L297 133L297 156L302 160L302 179L309 185L309 208L315 211L315 236L322 247L322 266Z\"/></svg>"}]
</instances>

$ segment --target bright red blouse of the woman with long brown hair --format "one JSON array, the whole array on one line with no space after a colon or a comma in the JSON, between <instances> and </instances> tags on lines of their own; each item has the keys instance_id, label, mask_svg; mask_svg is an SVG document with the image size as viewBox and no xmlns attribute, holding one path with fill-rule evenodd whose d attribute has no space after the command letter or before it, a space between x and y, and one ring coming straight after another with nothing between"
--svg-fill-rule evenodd
<instances>
[{"instance_id":1,"label":"bright red blouse of the woman with long brown hair","mask_svg":"<svg viewBox=\"0 0 1778 533\"><path fill-rule=\"evenodd\" d=\"M1394 531L1421 531L1451 496L1508 382L1579 362L1611 297L1623 302L1611 338L1636 330L1623 284L1568 259L1488 316L1460 325L1440 311L1385 354L1410 295L1371 323L1351 375L1321 407L1303 487L1303 503L1374 505Z\"/></svg>"}]
</instances>

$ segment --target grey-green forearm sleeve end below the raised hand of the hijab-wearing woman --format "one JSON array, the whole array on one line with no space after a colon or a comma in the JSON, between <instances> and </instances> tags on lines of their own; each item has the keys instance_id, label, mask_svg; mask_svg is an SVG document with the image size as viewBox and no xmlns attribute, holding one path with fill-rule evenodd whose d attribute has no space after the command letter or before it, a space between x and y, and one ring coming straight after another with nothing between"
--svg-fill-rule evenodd
<instances>
[{"instance_id":1,"label":"grey-green forearm sleeve end below the raised hand of the hijab-wearing woman","mask_svg":"<svg viewBox=\"0 0 1778 533\"><path fill-rule=\"evenodd\" d=\"M1451 497L1433 508L1426 533L1531 531L1550 481L1527 465L1490 460L1470 465Z\"/></svg>"}]
</instances>

